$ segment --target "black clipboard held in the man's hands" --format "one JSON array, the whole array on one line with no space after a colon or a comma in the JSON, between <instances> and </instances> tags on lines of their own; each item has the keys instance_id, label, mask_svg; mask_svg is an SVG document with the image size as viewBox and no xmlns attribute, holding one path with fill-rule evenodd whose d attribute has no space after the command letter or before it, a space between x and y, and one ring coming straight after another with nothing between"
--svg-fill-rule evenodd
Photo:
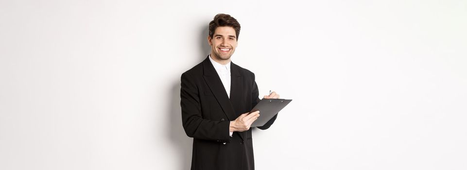
<instances>
[{"instance_id":1,"label":"black clipboard held in the man's hands","mask_svg":"<svg viewBox=\"0 0 467 170\"><path fill-rule=\"evenodd\" d=\"M292 100L287 99L262 99L256 106L251 109L251 112L259 110L259 117L256 119L250 127L258 127L266 124L271 118L273 118L280 110L282 110Z\"/></svg>"}]
</instances>

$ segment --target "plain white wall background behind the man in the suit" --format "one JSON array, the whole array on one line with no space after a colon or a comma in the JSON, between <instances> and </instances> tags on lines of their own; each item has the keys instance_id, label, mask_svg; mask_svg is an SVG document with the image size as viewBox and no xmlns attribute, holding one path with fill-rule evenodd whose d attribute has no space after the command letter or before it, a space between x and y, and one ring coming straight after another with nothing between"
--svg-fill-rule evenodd
<instances>
[{"instance_id":1,"label":"plain white wall background behind the man in the suit","mask_svg":"<svg viewBox=\"0 0 467 170\"><path fill-rule=\"evenodd\" d=\"M466 170L466 0L1 0L1 170L188 170L180 75L218 13L260 95L258 170Z\"/></svg>"}]
</instances>

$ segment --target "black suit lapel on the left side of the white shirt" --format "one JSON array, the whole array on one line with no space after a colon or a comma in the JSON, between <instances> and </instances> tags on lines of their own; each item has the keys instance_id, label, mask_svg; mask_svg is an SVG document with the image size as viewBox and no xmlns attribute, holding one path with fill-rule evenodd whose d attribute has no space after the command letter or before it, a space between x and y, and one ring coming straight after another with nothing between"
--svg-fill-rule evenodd
<instances>
[{"instance_id":1,"label":"black suit lapel on the left side of the white shirt","mask_svg":"<svg viewBox=\"0 0 467 170\"><path fill-rule=\"evenodd\" d=\"M203 61L203 69L204 80L206 81L206 84L208 84L209 89L211 89L212 94L214 94L217 102L221 105L227 119L230 121L237 119L238 116L236 116L235 110L229 101L221 78L219 78L214 66L212 66L211 61L209 61L209 58L206 58L206 60Z\"/></svg>"}]
</instances>

